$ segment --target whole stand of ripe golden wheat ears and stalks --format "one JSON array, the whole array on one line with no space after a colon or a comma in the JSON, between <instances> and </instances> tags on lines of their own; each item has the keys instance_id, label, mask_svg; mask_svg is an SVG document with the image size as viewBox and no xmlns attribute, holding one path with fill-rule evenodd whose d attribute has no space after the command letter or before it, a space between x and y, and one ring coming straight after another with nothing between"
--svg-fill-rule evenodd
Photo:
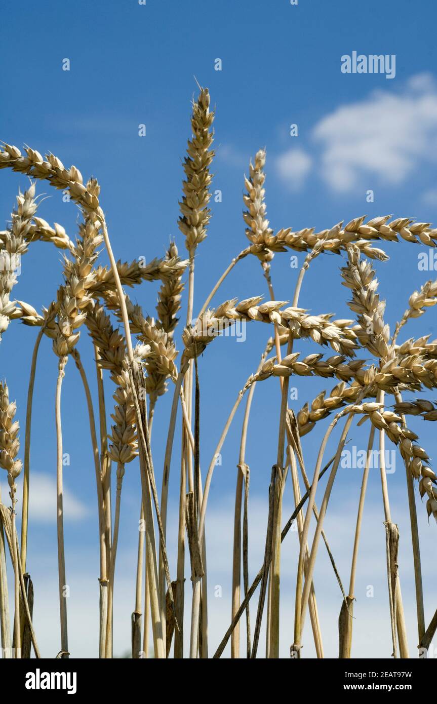
<instances>
[{"instance_id":1,"label":"whole stand of ripe golden wheat ears and stalks","mask_svg":"<svg viewBox=\"0 0 437 704\"><path fill-rule=\"evenodd\" d=\"M427 308L436 305L437 282L429 281L419 291L410 291L407 310L391 330L384 320L386 302L379 296L372 260L384 263L388 259L380 248L384 242L397 242L405 249L418 244L435 247L437 230L427 222L384 215L372 219L357 217L319 232L311 227L296 232L290 227L274 231L267 220L267 155L265 149L260 149L248 164L247 175L241 175L244 194L240 244L235 244L236 251L229 257L229 266L221 275L220 271L214 271L214 263L208 263L217 283L200 310L196 310L196 270L205 265L202 243L208 237L212 216L209 205L215 158L214 117L208 89L199 87L192 103L191 125L185 128L188 146L182 163L184 175L177 223L180 232L168 245L163 258L153 258L148 263L118 260L103 209L104 192L94 177L84 180L78 168L66 168L52 153L43 156L29 146L24 149L6 143L1 146L0 168L18 174L20 183L27 180L25 191L18 191L7 229L0 232L1 337L13 335L18 323L37 328L37 331L28 331L34 347L27 371L30 379L27 408L15 406L14 390L8 388L6 380L0 384L0 466L7 474L9 489L8 496L1 497L3 503L0 503L0 626L5 658L53 658L56 655L39 651L38 633L32 624L34 587L37 599L38 586L32 584L32 554L27 551L28 532L32 532L28 507L32 496L30 447L34 383L44 336L51 340L53 351L46 363L56 363L58 370L53 398L57 447L58 658L70 655L68 599L65 597L69 555L64 544L61 399L63 379L73 365L77 367L84 390L84 412L89 417L96 479L99 589L94 595L94 608L99 612L100 658L113 658L117 647L113 642L113 606L117 599L122 486L129 463L139 468L141 476L140 530L138 535L132 536L138 543L137 565L132 566L136 574L136 589L132 593L132 658L147 658L150 643L153 643L154 658L220 658L228 643L232 658L279 658L281 627L289 633L291 658L300 659L304 657L303 629L307 618L317 658L323 658L319 612L323 611L324 603L323 596L316 598L313 577L317 556L325 550L332 577L338 582L338 634L335 636L338 658L350 658L355 576L360 559L369 460L374 448L381 458L386 534L386 618L391 628L391 650L389 648L387 657L417 656L409 652L407 644L398 570L398 551L402 543L398 526L391 517L384 465L388 447L395 449L405 467L403 483L411 532L403 535L403 541L411 541L413 546L418 647L429 648L436 631L437 612L430 623L425 621L416 497L419 494L423 499L421 510L430 519L429 531L433 531L433 519L437 519L437 476L430 467L427 449L421 446L419 435L412 429L417 424L411 421L414 417L425 422L437 420L437 405L421 398L422 391L437 386L437 341L431 341L429 336L407 338L406 330L411 319L421 317ZM37 196L37 187L42 182L68 192L72 201L70 207L80 213L78 232L74 236L62 225L51 225L39 217L40 210L49 210ZM110 210L110 203L106 207ZM42 313L38 313L31 302L14 297L17 262L30 247L49 245L61 250L62 272L57 282L53 281L53 300L47 301ZM99 260L103 253L109 265ZM279 301L274 295L272 262L284 253L300 253L303 257L289 301ZM328 255L336 256L341 266L341 283L347 289L343 293L350 309L347 320L336 319L330 312L313 314L303 307L303 281L310 279L314 260L323 260ZM245 260L252 257L259 261L257 290L248 291L244 300L222 301L220 287L224 279L234 270L238 272ZM159 282L160 286L153 318L144 314L139 303L133 302L146 302L144 308L150 305L148 282ZM260 289L265 291L264 295L253 295ZM201 422L198 367L208 367L210 345L222 342L217 338L232 334L237 327L246 329L247 326L249 331L261 322L265 324L260 326L265 330L265 347L259 350L258 367L248 367L241 388L235 389L234 406L229 410L224 427L206 427L205 419ZM96 367L93 379L89 379L82 364L77 347L80 337L85 339L84 349ZM305 355L300 341L310 346L311 353ZM319 377L320 391L311 403L305 403L295 413L289 396L296 377ZM106 382L110 379L113 386L112 413L104 379ZM329 379L333 379L335 385L327 389ZM272 386L271 398L279 423L276 436L267 439L272 466L268 469L264 559L258 573L251 574L247 439L253 396L261 382ZM164 394L170 394L172 403L166 419L164 463L163 467L158 467L153 463L153 420ZM240 407L241 414L236 415ZM108 420L109 413L112 420ZM218 647L211 648L207 567L210 555L205 522L216 458L230 427L237 422L235 417L239 422L240 441L232 489L235 492L233 551L228 560L232 611ZM324 419L328 419L325 424ZM351 527L350 573L348 581L342 582L325 532L325 517L331 494L338 484L335 480L343 451L356 424L365 425L368 433L367 459L362 471L356 522ZM305 459L307 442L311 441L313 429L320 425L323 431L317 438L322 437L322 441L317 461L312 465ZM201 467L200 462L203 433L213 434L217 441L208 467ZM335 437L336 451L328 456L331 435ZM180 448L175 444L176 436L182 438ZM32 444L37 442L32 436ZM83 442L89 444L89 439ZM52 469L54 472L54 467ZM16 483L20 474L23 476L21 492ZM170 484L179 492L178 532L177 536L171 536L177 541L176 560L170 560L167 553ZM291 516L283 510L286 489L293 495L295 508ZM22 510L20 529L15 520L17 504ZM290 593L280 591L281 543L292 527L297 527L299 548L296 565L293 565L296 585ZM189 557L188 571L186 556ZM8 593L8 573L13 574L13 595ZM293 624L281 623L279 605L283 600L291 604ZM189 628L184 628L184 620L188 620ZM262 623L267 634L265 643L260 641ZM334 636L331 634L331 637Z\"/></svg>"}]
</instances>

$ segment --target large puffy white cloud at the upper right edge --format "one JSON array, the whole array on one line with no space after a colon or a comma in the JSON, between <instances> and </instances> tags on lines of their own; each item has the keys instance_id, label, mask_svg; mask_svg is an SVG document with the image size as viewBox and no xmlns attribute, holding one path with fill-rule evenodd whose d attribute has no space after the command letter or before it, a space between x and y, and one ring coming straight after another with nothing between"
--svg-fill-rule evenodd
<instances>
[{"instance_id":1,"label":"large puffy white cloud at the upper right edge","mask_svg":"<svg viewBox=\"0 0 437 704\"><path fill-rule=\"evenodd\" d=\"M336 191L374 182L405 182L433 158L437 144L437 88L429 74L402 92L379 90L322 118L313 137L320 145L321 175Z\"/></svg>"}]
</instances>

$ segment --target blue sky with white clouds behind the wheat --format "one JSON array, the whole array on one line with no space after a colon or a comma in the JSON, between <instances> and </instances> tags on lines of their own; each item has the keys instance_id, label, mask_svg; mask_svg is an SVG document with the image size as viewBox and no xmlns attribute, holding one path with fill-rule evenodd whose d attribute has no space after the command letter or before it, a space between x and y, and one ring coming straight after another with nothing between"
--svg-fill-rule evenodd
<instances>
[{"instance_id":1,"label":"blue sky with white clouds behind the wheat","mask_svg":"<svg viewBox=\"0 0 437 704\"><path fill-rule=\"evenodd\" d=\"M190 136L190 100L196 81L208 86L215 119L213 164L214 189L222 202L212 203L213 220L208 239L196 257L195 310L229 260L246 246L243 208L243 174L248 161L262 146L267 148L267 213L274 230L280 227L331 227L367 213L369 217L393 213L425 222L436 221L437 71L434 27L436 9L425 1L414 6L406 0L384 4L370 0L350 3L338 0L288 0L222 2L147 0L96 0L74 4L46 0L43 4L9 2L3 10L4 27L14 37L13 51L1 56L0 86L4 96L0 137L9 144L29 144L42 153L51 151L66 163L74 163L85 177L101 183L101 203L106 212L115 256L132 260L163 256L170 237L184 254L184 239L177 228L181 194L182 158ZM341 56L352 54L395 55L395 77L384 74L341 73ZM70 71L62 70L70 59ZM220 58L222 70L215 70ZM138 125L146 125L146 137ZM298 125L291 137L290 125ZM0 172L0 206L4 222L13 206L23 176ZM369 189L374 202L366 201ZM51 197L39 208L49 222L60 222L70 237L77 231L77 210L44 183L39 193ZM433 272L417 268L417 254L425 247L388 244L388 263L376 263L381 296L387 298L386 320L393 326L407 306L410 293ZM277 298L291 300L296 269L290 254L277 255L272 277ZM23 270L14 294L39 309L53 298L61 282L59 252L34 244L23 258ZM303 256L298 256L299 262ZM102 260L105 255L102 253ZM314 313L332 312L350 318L348 294L341 287L341 258L318 258L305 278L300 304ZM158 284L144 284L132 298L153 315ZM129 291L130 293L130 291ZM229 276L215 303L234 296L267 294L258 260L246 259ZM185 301L184 301L185 304ZM184 315L184 313L183 313ZM433 309L413 321L401 340L412 335L436 337ZM180 348L180 330L177 344ZM236 391L258 365L260 352L270 333L267 326L248 326L244 344L233 338L210 345L201 359L201 463L206 468L220 436ZM6 377L18 417L24 427L25 399L32 346L36 331L14 323L0 346L1 375ZM91 348L82 332L79 345L87 359L94 383ZM319 351L303 341L296 345L305 353ZM29 569L34 577L35 627L47 656L58 652L56 606L56 510L53 482L56 478L53 400L56 359L45 340L39 359L36 411L32 424L32 486L34 517L30 524ZM335 382L298 380L298 410L307 400ZM108 384L108 394L110 385ZM267 515L270 467L276 458L279 391L274 380L258 384L253 403L248 463L251 465L253 498L251 527L251 573L262 561L262 531ZM433 395L427 395L433 398ZM153 458L160 484L170 394L160 399L153 427ZM108 402L110 406L110 402ZM91 462L84 398L77 371L68 363L63 389L65 452L66 567L72 584L69 603L72 656L96 655L98 632L98 542L94 468ZM432 427L419 426L422 444L432 455ZM305 439L310 466L317 453L322 429ZM210 598L211 644L220 639L230 612L229 574L232 565L232 505L241 429L241 413L222 452L210 495L207 540L214 546L210 560L210 589L223 586L222 599ZM24 428L22 432L24 438ZM365 432L354 431L354 442L365 446ZM334 445L332 446L334 447ZM330 455L329 455L330 456ZM169 549L175 569L177 536L178 453L172 469L172 512ZM2 477L5 479L5 477ZM401 529L400 574L405 592L405 611L414 630L414 592L405 471L398 458L397 471L388 477L393 520ZM5 482L2 482L6 496ZM353 526L360 491L360 471L339 472L327 534L336 547L344 582L352 552ZM32 499L31 499L32 501ZM291 508L291 486L286 490ZM129 614L133 608L138 467L127 467L122 496L120 553L116 578L115 651L129 648ZM330 515L331 512L331 515ZM418 500L421 536L424 540L424 589L426 620L436 608L432 599L430 562L435 561L435 525L428 525ZM362 539L362 566L357 576L355 656L389 657L390 625L384 577L384 527L378 472L371 473L367 517ZM225 528L223 528L226 526ZM217 528L217 529L216 529ZM258 536L258 537L257 537ZM293 537L295 543L293 546ZM292 637L293 584L296 569L296 534L284 547L283 627L281 655L287 656ZM336 655L336 619L341 596L322 548L315 586L320 584L320 610L326 650ZM368 584L379 585L374 599L365 598ZM73 586L74 585L74 586ZM117 586L119 585L119 586ZM361 590L361 591L360 591ZM188 596L188 589L187 589ZM49 627L45 627L47 624ZM87 636L80 631L86 624ZM89 625L88 625L89 624ZM372 624L376 624L371 628ZM377 637L375 639L375 633ZM355 637L355 636L354 636ZM306 635L312 656L310 634Z\"/></svg>"}]
</instances>

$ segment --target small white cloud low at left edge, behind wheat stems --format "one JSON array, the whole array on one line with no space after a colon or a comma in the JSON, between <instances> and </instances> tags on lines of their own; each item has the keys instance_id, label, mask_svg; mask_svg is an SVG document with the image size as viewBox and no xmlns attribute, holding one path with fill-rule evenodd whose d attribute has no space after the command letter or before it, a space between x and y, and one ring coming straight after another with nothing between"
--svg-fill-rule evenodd
<instances>
[{"instance_id":1,"label":"small white cloud low at left edge, behind wheat stems","mask_svg":"<svg viewBox=\"0 0 437 704\"><path fill-rule=\"evenodd\" d=\"M8 485L1 484L1 496L4 503L8 503ZM18 496L23 496L23 475L18 482ZM17 513L20 515L21 502L18 501ZM63 482L63 511L64 519L77 521L88 514L88 509L66 487ZM29 492L29 520L39 523L56 522L56 479L50 474L31 472Z\"/></svg>"}]
</instances>

